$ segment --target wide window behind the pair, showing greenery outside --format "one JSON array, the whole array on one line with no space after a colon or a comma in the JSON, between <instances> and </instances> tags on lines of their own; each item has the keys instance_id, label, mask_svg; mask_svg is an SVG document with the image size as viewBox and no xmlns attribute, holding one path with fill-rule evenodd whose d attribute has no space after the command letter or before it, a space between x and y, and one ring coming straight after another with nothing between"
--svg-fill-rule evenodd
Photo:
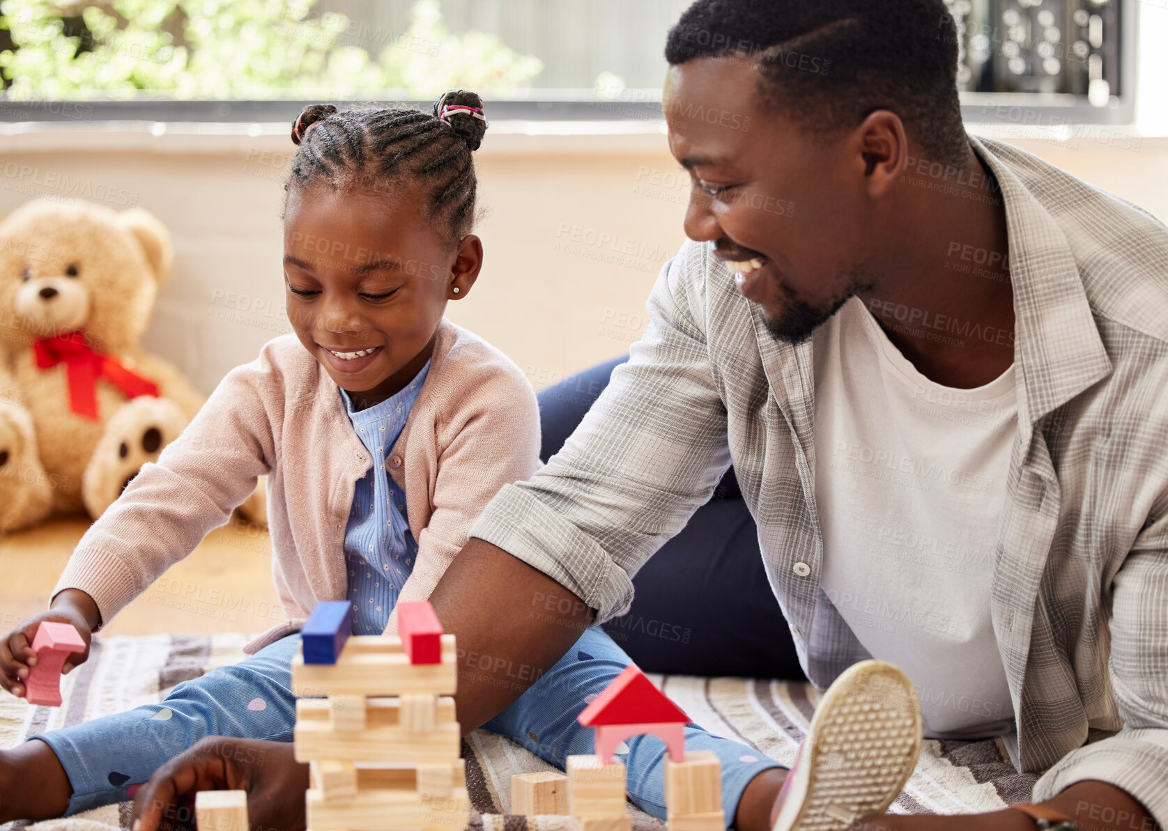
<instances>
[{"instance_id":1,"label":"wide window behind the pair, showing greenery outside","mask_svg":"<svg viewBox=\"0 0 1168 831\"><path fill-rule=\"evenodd\" d=\"M93 118L283 120L306 100L429 102L458 85L512 103L503 117L653 118L665 33L688 1L4 0L0 117L85 100ZM971 120L1013 105L1131 120L1134 0L946 4Z\"/></svg>"}]
</instances>

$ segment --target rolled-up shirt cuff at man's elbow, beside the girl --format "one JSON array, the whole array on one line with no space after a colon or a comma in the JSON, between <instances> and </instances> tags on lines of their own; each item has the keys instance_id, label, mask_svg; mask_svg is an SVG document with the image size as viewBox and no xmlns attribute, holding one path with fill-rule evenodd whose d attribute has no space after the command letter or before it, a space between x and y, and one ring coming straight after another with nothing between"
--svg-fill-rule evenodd
<instances>
[{"instance_id":1,"label":"rolled-up shirt cuff at man's elbow, beside the girl","mask_svg":"<svg viewBox=\"0 0 1168 831\"><path fill-rule=\"evenodd\" d=\"M550 577L597 610L596 623L633 601L633 582L600 545L521 486L487 503L471 537L496 545Z\"/></svg>"}]
</instances>

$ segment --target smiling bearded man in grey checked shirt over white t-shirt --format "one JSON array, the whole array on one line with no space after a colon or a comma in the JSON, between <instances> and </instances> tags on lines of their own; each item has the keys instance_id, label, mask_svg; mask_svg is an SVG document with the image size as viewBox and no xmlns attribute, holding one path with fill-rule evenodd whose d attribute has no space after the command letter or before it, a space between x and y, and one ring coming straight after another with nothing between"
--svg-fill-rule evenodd
<instances>
[{"instance_id":1,"label":"smiling bearded man in grey checked shirt over white t-shirt","mask_svg":"<svg viewBox=\"0 0 1168 831\"><path fill-rule=\"evenodd\" d=\"M564 449L475 525L447 631L551 666L732 460L812 682L896 663L926 734L1049 769L1029 813L1168 823L1168 232L966 137L941 0L698 0L666 56L691 242ZM464 728L515 697L465 679ZM773 819L773 774L738 827Z\"/></svg>"}]
</instances>

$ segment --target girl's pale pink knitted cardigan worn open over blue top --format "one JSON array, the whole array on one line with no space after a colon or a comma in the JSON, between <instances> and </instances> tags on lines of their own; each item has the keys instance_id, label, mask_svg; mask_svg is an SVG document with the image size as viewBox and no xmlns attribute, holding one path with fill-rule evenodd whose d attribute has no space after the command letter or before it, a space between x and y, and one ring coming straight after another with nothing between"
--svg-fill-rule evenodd
<instances>
[{"instance_id":1,"label":"girl's pale pink knitted cardigan worn open over blue top","mask_svg":"<svg viewBox=\"0 0 1168 831\"><path fill-rule=\"evenodd\" d=\"M503 484L540 466L531 385L502 352L443 320L430 372L387 468L405 491L418 543L399 600L430 596ZM248 644L299 629L321 600L345 600L345 529L373 459L336 384L294 335L220 383L207 404L86 531L54 594L79 588L113 617L189 554L267 476L272 572L288 620ZM387 631L396 633L396 616Z\"/></svg>"}]
</instances>

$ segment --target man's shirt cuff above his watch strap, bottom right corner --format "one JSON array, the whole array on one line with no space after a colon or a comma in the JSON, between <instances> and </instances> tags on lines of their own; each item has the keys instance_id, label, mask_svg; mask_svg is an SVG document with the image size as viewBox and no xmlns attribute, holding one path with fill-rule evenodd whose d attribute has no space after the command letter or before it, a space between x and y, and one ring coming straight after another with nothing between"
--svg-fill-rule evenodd
<instances>
[{"instance_id":1,"label":"man's shirt cuff above his watch strap, bottom right corner","mask_svg":"<svg viewBox=\"0 0 1168 831\"><path fill-rule=\"evenodd\" d=\"M1141 739L1140 734L1147 738ZM1154 736L1150 734L1155 734ZM1150 739L1150 741L1149 741ZM1076 782L1113 784L1140 802L1160 827L1168 827L1168 729L1125 729L1066 754L1034 785L1034 801L1050 799ZM1111 812L1111 809L1100 809ZM1092 817L1112 823L1114 817ZM1121 823L1127 827L1126 823Z\"/></svg>"}]
</instances>

